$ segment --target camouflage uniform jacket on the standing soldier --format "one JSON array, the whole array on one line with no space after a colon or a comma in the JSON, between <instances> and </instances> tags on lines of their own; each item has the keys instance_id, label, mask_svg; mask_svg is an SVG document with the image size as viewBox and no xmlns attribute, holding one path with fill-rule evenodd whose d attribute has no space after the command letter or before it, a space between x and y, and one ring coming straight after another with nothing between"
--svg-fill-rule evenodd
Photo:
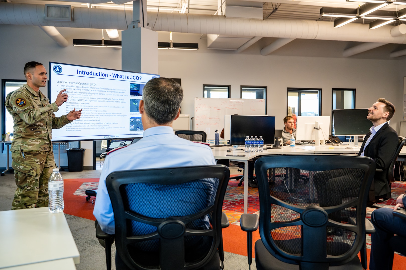
<instances>
[{"instance_id":1,"label":"camouflage uniform jacket on the standing soldier","mask_svg":"<svg viewBox=\"0 0 406 270\"><path fill-rule=\"evenodd\" d=\"M52 128L71 123L67 115L55 117L58 105L26 84L6 96L5 106L14 120L11 151L51 151Z\"/></svg>"}]
</instances>

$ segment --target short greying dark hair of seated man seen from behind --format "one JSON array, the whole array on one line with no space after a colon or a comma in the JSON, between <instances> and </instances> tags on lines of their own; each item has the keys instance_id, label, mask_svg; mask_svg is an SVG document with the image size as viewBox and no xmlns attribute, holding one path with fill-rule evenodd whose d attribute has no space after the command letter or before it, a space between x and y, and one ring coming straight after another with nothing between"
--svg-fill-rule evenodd
<instances>
[{"instance_id":1,"label":"short greying dark hair of seated man seen from behind","mask_svg":"<svg viewBox=\"0 0 406 270\"><path fill-rule=\"evenodd\" d=\"M170 123L175 119L182 99L182 87L172 79L151 79L143 89L145 113L158 125Z\"/></svg>"}]
</instances>

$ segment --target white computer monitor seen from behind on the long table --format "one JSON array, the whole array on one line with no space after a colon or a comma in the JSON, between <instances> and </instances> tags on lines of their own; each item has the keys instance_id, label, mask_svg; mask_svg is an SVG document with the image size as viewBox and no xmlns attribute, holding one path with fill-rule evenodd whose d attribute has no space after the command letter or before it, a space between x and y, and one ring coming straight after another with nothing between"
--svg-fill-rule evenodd
<instances>
[{"instance_id":1,"label":"white computer monitor seen from behind on the long table","mask_svg":"<svg viewBox=\"0 0 406 270\"><path fill-rule=\"evenodd\" d=\"M319 128L316 127L316 122ZM330 116L298 116L296 120L296 140L315 140L315 145L320 145L320 140L328 140L330 134ZM317 139L318 138L318 139Z\"/></svg>"}]
</instances>

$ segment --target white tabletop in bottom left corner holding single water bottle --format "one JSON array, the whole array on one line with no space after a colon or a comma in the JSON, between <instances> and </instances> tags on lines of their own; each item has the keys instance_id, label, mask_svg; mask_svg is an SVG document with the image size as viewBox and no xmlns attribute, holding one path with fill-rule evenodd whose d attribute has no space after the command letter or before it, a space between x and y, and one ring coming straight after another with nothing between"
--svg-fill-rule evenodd
<instances>
[{"instance_id":1,"label":"white tabletop in bottom left corner holding single water bottle","mask_svg":"<svg viewBox=\"0 0 406 270\"><path fill-rule=\"evenodd\" d=\"M63 212L48 207L0 211L0 268L73 258L78 248Z\"/></svg>"}]
</instances>

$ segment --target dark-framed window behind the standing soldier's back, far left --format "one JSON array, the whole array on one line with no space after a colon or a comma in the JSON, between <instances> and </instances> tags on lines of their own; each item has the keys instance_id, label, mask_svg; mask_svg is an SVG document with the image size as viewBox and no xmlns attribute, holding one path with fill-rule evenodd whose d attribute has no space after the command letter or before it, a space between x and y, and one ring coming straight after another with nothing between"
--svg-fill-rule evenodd
<instances>
[{"instance_id":1,"label":"dark-framed window behind the standing soldier's back, far left","mask_svg":"<svg viewBox=\"0 0 406 270\"><path fill-rule=\"evenodd\" d=\"M10 133L13 134L13 117L10 113L6 110L6 106L4 105L4 101L6 100L7 94L10 92L17 90L18 88L22 87L27 81L26 80L5 80L2 79L2 134ZM5 147L2 145L2 153L5 153Z\"/></svg>"}]
</instances>

